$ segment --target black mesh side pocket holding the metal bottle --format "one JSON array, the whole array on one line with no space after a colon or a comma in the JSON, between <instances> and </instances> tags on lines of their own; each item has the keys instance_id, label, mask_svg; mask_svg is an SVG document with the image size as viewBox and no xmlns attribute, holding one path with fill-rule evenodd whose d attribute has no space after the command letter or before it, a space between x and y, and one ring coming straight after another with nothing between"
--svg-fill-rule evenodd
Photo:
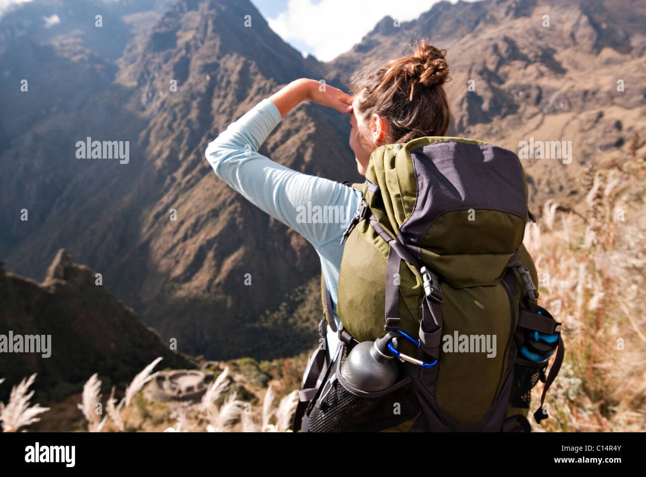
<instances>
[{"instance_id":1,"label":"black mesh side pocket holding the metal bottle","mask_svg":"<svg viewBox=\"0 0 646 477\"><path fill-rule=\"evenodd\" d=\"M343 352L341 364L347 353ZM362 398L349 392L336 375L309 413L309 432L379 432L414 418L420 408L412 383L379 398ZM399 410L395 414L395 410Z\"/></svg>"}]
</instances>

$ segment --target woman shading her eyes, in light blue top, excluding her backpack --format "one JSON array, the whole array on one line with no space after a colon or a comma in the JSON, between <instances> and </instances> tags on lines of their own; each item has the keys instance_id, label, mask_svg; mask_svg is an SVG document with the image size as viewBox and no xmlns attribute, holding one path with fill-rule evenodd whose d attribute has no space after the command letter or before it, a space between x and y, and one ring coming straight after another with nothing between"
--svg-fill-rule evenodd
<instances>
[{"instance_id":1,"label":"woman shading her eyes, in light blue top, excluding her backpack","mask_svg":"<svg viewBox=\"0 0 646 477\"><path fill-rule=\"evenodd\" d=\"M339 268L344 246L339 224L307 224L298 220L298 206L343 206L353 213L359 191L325 178L299 173L257 151L286 114L302 101L333 107L348 114L349 145L357 170L366 173L370 154L379 145L406 142L421 136L443 136L450 114L443 83L448 78L444 55L426 41L411 56L385 65L369 65L350 80L352 96L314 79L289 83L258 103L209 143L205 155L215 173L253 204L300 233L318 253L326 288L337 302ZM335 315L337 326L339 317ZM328 326L328 350L338 337Z\"/></svg>"}]
</instances>

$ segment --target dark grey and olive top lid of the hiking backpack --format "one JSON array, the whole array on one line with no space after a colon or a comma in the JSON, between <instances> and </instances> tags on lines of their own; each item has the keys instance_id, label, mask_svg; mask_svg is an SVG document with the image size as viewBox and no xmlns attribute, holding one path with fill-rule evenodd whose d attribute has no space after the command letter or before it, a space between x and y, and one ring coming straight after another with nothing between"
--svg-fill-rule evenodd
<instances>
[{"instance_id":1,"label":"dark grey and olive top lid of the hiking backpack","mask_svg":"<svg viewBox=\"0 0 646 477\"><path fill-rule=\"evenodd\" d=\"M525 171L491 143L425 136L382 145L362 191L379 224L451 286L499 282L523 242Z\"/></svg>"}]
</instances>

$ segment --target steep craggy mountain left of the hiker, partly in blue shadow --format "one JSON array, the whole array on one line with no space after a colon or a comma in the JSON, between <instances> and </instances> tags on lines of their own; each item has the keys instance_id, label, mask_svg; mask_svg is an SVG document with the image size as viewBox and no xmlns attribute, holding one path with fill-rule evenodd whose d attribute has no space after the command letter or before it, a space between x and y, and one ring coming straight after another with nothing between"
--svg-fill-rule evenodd
<instances>
[{"instance_id":1,"label":"steep craggy mountain left of the hiker, partly in blue shadow","mask_svg":"<svg viewBox=\"0 0 646 477\"><path fill-rule=\"evenodd\" d=\"M238 20L249 12L253 26L246 28ZM43 8L37 15L49 14ZM58 15L62 28L66 19ZM10 23L12 14L2 21ZM249 41L262 46L247 48ZM91 42L83 45L94 52ZM52 48L47 42L30 47ZM3 64L37 70L37 60L25 66L25 54L16 48L5 48ZM292 312L311 308L312 301L301 302L311 295L302 290L318 273L314 251L218 180L203 151L278 85L320 76L318 63L271 32L251 3L233 1L178 1L151 30L132 37L116 61L88 58L90 64L78 59L81 70L72 69L68 78L78 84L62 81L65 90L37 90L69 98L63 102L70 111L45 111L34 125L5 129L10 139L3 140L0 161L18 165L3 167L13 172L0 178L8 268L37 277L65 244L103 273L105 286L147 324L165 339L178 339L184 352L222 358L309 348L320 312L297 323ZM71 68L68 59L54 55L51 61ZM2 81L19 84L20 77ZM176 92L169 90L169 79L178 81ZM76 99L83 94L87 98ZM7 123L25 108L17 98ZM351 178L351 164L314 160L315 151L331 157L349 150L347 132L334 122L340 116L302 105L262 151L307 173ZM129 164L78 160L76 142L88 136L129 141ZM169 220L171 208L177 221ZM22 209L29 220L18 220ZM244 286L245 273L252 274L253 286ZM303 298L295 301L295 294ZM295 333L286 334L286 327ZM264 344L253 343L249 334L260 335Z\"/></svg>"}]
</instances>

